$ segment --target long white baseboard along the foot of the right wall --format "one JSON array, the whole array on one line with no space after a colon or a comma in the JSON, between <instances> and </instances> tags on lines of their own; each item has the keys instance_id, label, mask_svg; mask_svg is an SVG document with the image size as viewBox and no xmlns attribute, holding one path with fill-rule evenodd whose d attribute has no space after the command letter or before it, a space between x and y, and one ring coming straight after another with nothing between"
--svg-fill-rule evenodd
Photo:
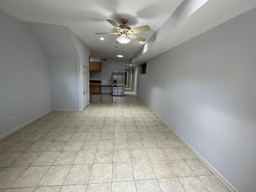
<instances>
[{"instance_id":1,"label":"long white baseboard along the foot of the right wall","mask_svg":"<svg viewBox=\"0 0 256 192\"><path fill-rule=\"evenodd\" d=\"M133 91L134 92L134 91ZM134 92L135 93L135 92ZM136 94L136 93L135 93ZM138 94L136 94L138 96ZM138 96L140 98L140 96ZM228 182L215 168L213 168L194 148L192 148L173 128L171 128L142 98L140 98L148 108L150 108L162 122L198 157L198 159L232 192L238 192L230 182Z\"/></svg>"}]
</instances>

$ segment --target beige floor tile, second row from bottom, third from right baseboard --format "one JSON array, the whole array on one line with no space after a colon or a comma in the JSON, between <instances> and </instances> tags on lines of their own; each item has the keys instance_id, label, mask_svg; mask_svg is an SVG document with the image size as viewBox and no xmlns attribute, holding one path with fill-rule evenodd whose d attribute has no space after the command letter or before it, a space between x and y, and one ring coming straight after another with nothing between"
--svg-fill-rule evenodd
<instances>
[{"instance_id":1,"label":"beige floor tile, second row from bottom, third from right baseboard","mask_svg":"<svg viewBox=\"0 0 256 192\"><path fill-rule=\"evenodd\" d=\"M170 164L167 161L151 161L156 178L176 177Z\"/></svg>"}]
</instances>

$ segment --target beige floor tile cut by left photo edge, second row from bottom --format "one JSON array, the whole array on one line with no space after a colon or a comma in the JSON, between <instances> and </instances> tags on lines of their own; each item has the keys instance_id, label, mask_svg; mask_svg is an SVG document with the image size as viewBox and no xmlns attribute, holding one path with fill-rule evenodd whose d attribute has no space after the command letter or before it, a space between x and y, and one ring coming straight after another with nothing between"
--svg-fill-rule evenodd
<instances>
[{"instance_id":1,"label":"beige floor tile cut by left photo edge, second row from bottom","mask_svg":"<svg viewBox=\"0 0 256 192\"><path fill-rule=\"evenodd\" d=\"M27 167L10 167L0 172L0 189L8 188Z\"/></svg>"}]
</instances>

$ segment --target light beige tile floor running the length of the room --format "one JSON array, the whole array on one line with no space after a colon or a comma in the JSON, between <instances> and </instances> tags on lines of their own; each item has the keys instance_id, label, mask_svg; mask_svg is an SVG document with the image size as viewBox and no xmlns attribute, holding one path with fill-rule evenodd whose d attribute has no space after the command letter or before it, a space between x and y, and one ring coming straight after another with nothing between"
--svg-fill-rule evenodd
<instances>
[{"instance_id":1,"label":"light beige tile floor running the length of the room","mask_svg":"<svg viewBox=\"0 0 256 192\"><path fill-rule=\"evenodd\" d=\"M0 192L229 192L130 89L0 140Z\"/></svg>"}]
</instances>

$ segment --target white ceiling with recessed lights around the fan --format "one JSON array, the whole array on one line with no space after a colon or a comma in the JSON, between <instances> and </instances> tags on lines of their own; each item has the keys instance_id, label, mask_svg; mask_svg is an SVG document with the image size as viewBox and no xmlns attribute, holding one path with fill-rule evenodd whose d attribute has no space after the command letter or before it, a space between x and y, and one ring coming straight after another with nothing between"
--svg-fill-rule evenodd
<instances>
[{"instance_id":1,"label":"white ceiling with recessed lights around the fan","mask_svg":"<svg viewBox=\"0 0 256 192\"><path fill-rule=\"evenodd\" d=\"M256 6L255 0L208 0L159 37L158 32L168 25L166 20L179 6L198 1L206 0L0 0L0 9L22 21L68 26L90 47L91 56L103 58L116 58L123 48L120 43L116 48L115 35L95 34L116 32L106 19L121 25L120 19L127 18L131 28L148 25L151 31L136 34L147 39L144 44L132 40L124 45L123 59L136 65ZM157 42L148 42L157 35Z\"/></svg>"}]
</instances>

